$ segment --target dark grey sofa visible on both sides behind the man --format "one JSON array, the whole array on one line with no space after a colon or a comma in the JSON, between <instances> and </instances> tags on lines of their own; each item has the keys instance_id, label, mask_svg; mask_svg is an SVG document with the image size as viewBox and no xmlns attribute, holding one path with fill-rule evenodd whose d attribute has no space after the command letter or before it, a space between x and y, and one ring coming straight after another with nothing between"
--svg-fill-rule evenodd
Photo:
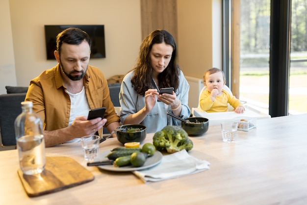
<instances>
[{"instance_id":1,"label":"dark grey sofa visible on both sides behind the man","mask_svg":"<svg viewBox=\"0 0 307 205\"><path fill-rule=\"evenodd\" d=\"M114 106L120 106L118 94L120 83L108 84L111 101ZM27 87L5 86L7 94L0 95L0 142L1 147L15 146L14 122L16 117L22 112L21 102L25 101ZM103 128L103 133L108 133Z\"/></svg>"}]
</instances>

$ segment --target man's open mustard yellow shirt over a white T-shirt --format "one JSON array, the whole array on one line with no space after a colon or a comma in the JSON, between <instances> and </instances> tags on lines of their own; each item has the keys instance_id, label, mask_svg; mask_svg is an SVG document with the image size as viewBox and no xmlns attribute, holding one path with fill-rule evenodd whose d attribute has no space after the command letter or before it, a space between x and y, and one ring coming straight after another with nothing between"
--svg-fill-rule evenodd
<instances>
[{"instance_id":1,"label":"man's open mustard yellow shirt over a white T-shirt","mask_svg":"<svg viewBox=\"0 0 307 205\"><path fill-rule=\"evenodd\" d=\"M33 112L36 112L44 122L44 130L56 130L68 127L71 110L69 95L61 77L60 65L44 71L30 81L26 94L26 101L33 102ZM88 66L83 77L84 89L88 104L91 109L106 107L104 117L107 119L105 126L119 122L107 81L98 68Z\"/></svg>"}]
</instances>

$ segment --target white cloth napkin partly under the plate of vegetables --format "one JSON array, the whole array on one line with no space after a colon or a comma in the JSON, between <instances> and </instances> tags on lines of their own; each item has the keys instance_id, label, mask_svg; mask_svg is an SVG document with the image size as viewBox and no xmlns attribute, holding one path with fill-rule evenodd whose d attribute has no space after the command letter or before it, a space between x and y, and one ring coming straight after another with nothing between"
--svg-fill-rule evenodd
<instances>
[{"instance_id":1,"label":"white cloth napkin partly under the plate of vegetables","mask_svg":"<svg viewBox=\"0 0 307 205\"><path fill-rule=\"evenodd\" d=\"M191 156L186 150L162 157L161 163L153 168L133 171L138 178L147 181L173 179L209 169L210 163Z\"/></svg>"}]
</instances>

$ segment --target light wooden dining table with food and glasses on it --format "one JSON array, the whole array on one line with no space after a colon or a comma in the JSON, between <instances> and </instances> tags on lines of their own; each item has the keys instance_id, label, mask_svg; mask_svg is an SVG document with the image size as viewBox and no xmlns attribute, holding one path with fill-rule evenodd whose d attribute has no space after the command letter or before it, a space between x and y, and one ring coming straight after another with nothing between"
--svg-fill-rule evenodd
<instances>
[{"instance_id":1,"label":"light wooden dining table with food and glasses on it","mask_svg":"<svg viewBox=\"0 0 307 205\"><path fill-rule=\"evenodd\" d=\"M148 133L142 144L152 143L153 134ZM256 128L238 131L234 143L222 141L219 125L210 126L202 136L190 138L194 147L189 154L208 161L210 169L146 183L131 172L112 172L87 166L80 143L46 148L46 156L71 157L95 179L37 197L27 196L17 174L17 150L2 151L0 204L307 204L307 114L257 120ZM100 144L100 153L121 146L116 138L108 138Z\"/></svg>"}]
</instances>

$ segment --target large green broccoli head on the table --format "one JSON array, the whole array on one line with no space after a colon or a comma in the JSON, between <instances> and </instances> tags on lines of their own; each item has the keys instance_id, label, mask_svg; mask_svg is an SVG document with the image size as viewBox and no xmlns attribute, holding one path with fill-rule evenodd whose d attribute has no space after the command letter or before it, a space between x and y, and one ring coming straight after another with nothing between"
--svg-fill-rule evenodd
<instances>
[{"instance_id":1,"label":"large green broccoli head on the table","mask_svg":"<svg viewBox=\"0 0 307 205\"><path fill-rule=\"evenodd\" d=\"M153 145L156 150L166 150L168 153L183 149L190 151L193 148L193 142L184 129L169 125L154 133Z\"/></svg>"}]
</instances>

